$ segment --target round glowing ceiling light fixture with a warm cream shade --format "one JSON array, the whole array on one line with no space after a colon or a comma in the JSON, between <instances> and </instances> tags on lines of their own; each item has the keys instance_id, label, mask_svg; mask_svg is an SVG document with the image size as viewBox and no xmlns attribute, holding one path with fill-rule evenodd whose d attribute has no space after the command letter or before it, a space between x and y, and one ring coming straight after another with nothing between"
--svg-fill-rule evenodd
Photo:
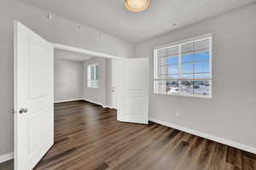
<instances>
[{"instance_id":1,"label":"round glowing ceiling light fixture with a warm cream shade","mask_svg":"<svg viewBox=\"0 0 256 170\"><path fill-rule=\"evenodd\" d=\"M131 12L141 12L149 7L150 0L125 0L125 8Z\"/></svg>"}]
</instances>

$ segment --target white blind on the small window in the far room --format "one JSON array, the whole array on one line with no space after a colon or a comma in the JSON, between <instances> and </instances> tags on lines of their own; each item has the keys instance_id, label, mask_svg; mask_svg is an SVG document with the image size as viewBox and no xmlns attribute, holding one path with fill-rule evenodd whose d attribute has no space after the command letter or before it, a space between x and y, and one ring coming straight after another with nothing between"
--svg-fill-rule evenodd
<instances>
[{"instance_id":1,"label":"white blind on the small window in the far room","mask_svg":"<svg viewBox=\"0 0 256 170\"><path fill-rule=\"evenodd\" d=\"M88 65L87 73L87 87L99 88L98 65Z\"/></svg>"}]
</instances>

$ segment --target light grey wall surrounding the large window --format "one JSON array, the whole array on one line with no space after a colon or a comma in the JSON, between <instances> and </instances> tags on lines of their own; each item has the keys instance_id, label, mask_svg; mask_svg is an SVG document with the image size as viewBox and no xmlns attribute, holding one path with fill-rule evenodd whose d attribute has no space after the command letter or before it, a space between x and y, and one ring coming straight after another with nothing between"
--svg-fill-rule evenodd
<instances>
[{"instance_id":1,"label":"light grey wall surrounding the large window","mask_svg":"<svg viewBox=\"0 0 256 170\"><path fill-rule=\"evenodd\" d=\"M150 58L149 116L256 149L255 16L254 3L137 43L136 55ZM153 48L207 33L213 35L212 99L153 94Z\"/></svg>"}]
</instances>

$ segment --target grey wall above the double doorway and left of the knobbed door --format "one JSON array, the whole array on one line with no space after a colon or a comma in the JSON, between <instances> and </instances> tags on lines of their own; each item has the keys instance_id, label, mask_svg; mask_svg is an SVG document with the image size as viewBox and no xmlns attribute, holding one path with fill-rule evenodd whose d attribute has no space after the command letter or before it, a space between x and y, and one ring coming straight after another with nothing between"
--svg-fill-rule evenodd
<instances>
[{"instance_id":1,"label":"grey wall above the double doorway and left of the knobbed door","mask_svg":"<svg viewBox=\"0 0 256 170\"><path fill-rule=\"evenodd\" d=\"M37 32L50 42L58 42L77 48L86 48L96 52L120 57L133 56L134 47L117 37L102 34L56 14L53 20L47 19L49 12L28 6L16 0L1 0L0 5L0 156L13 151L14 119L14 20ZM93 20L93 19L92 19Z\"/></svg>"}]
</instances>

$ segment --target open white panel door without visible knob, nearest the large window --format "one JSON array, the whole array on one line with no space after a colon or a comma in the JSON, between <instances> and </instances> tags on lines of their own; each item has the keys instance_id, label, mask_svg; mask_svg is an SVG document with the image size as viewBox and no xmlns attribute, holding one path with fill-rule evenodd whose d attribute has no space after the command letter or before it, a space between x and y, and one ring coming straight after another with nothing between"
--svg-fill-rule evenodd
<instances>
[{"instance_id":1,"label":"open white panel door without visible knob, nearest the large window","mask_svg":"<svg viewBox=\"0 0 256 170\"><path fill-rule=\"evenodd\" d=\"M120 122L148 124L148 59L120 59L119 108Z\"/></svg>"}]
</instances>

